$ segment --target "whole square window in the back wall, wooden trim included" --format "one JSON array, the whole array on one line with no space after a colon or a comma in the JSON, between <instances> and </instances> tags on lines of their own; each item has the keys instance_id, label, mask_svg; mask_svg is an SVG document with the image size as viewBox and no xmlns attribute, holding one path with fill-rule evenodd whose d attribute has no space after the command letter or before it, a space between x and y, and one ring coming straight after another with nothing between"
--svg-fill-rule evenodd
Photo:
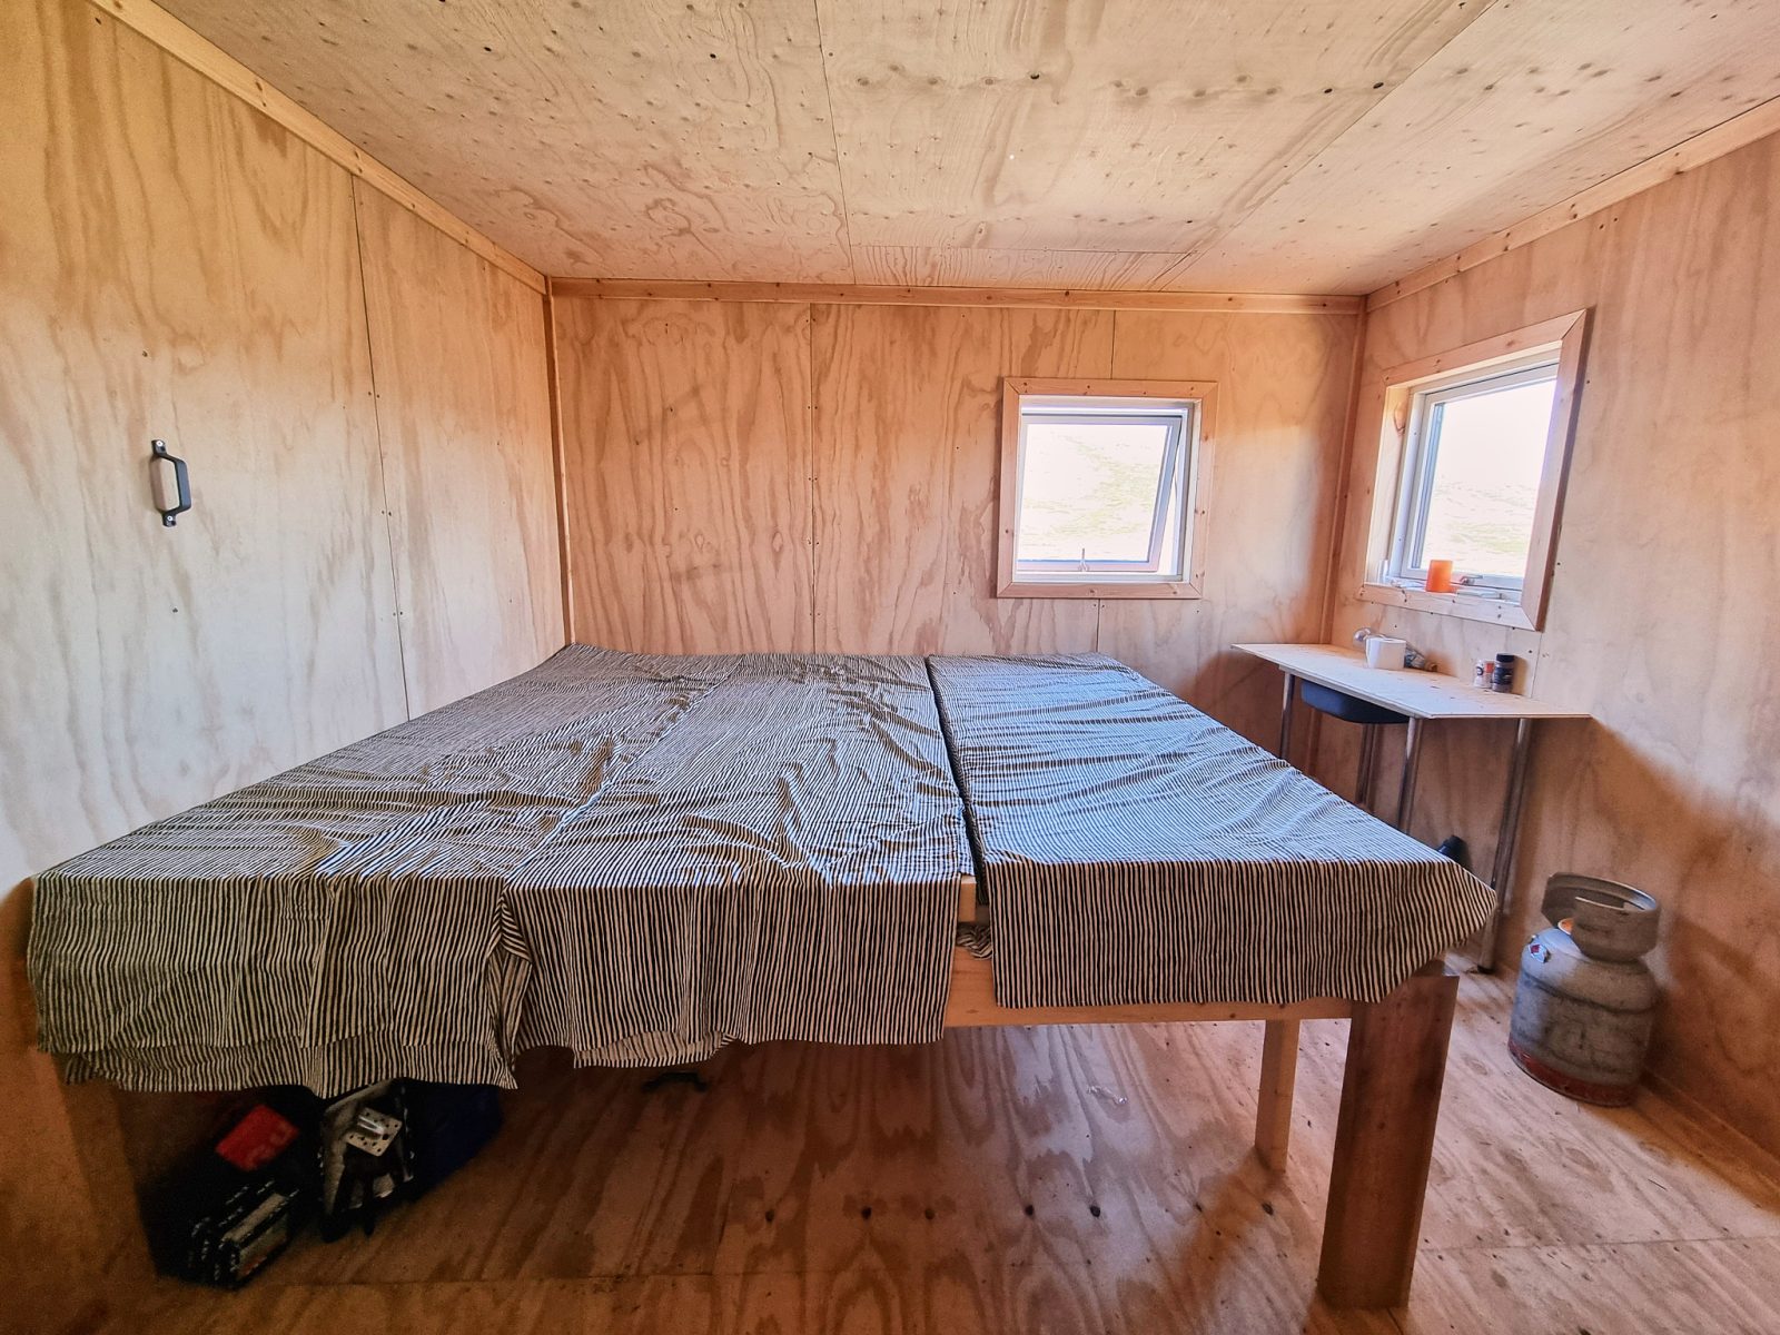
<instances>
[{"instance_id":1,"label":"whole square window in the back wall, wooden trim included","mask_svg":"<svg viewBox=\"0 0 1780 1335\"><path fill-rule=\"evenodd\" d=\"M1210 392L1007 381L1000 596L1198 596Z\"/></svg>"}]
</instances>

